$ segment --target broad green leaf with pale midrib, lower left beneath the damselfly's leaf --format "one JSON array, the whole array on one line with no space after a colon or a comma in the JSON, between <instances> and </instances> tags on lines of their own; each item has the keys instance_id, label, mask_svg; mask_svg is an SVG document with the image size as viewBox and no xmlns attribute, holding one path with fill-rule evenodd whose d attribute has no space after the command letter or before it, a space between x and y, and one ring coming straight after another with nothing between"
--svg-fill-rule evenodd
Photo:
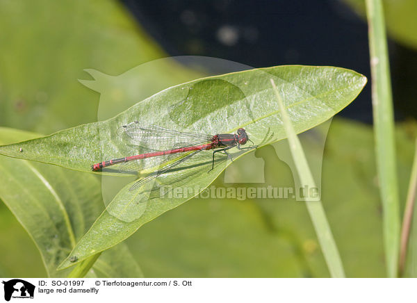
<instances>
[{"instance_id":1,"label":"broad green leaf with pale midrib, lower left beneath the damselfly's leaf","mask_svg":"<svg viewBox=\"0 0 417 303\"><path fill-rule=\"evenodd\" d=\"M3 144L38 136L0 128ZM65 277L68 270L56 271L57 265L103 210L99 181L60 167L0 158L0 198L37 245L49 277ZM97 270L108 277L142 276L124 245L102 254Z\"/></svg>"}]
</instances>

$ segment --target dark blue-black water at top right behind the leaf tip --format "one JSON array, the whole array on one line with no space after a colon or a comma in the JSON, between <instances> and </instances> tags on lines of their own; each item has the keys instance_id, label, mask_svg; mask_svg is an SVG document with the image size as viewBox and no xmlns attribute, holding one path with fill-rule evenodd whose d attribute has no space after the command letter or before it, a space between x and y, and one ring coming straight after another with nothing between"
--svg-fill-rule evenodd
<instances>
[{"instance_id":1,"label":"dark blue-black water at top right behind the leaf tip","mask_svg":"<svg viewBox=\"0 0 417 303\"><path fill-rule=\"evenodd\" d=\"M252 67L333 65L370 80L368 27L342 1L122 0L171 56L211 56ZM395 117L417 116L417 54L389 40ZM339 114L372 123L370 83Z\"/></svg>"}]
</instances>

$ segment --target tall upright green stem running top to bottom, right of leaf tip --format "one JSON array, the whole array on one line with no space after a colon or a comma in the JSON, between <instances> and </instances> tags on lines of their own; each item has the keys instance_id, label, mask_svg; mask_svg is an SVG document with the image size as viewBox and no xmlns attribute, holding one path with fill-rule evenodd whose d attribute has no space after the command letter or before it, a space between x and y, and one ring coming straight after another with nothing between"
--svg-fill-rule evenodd
<instances>
[{"instance_id":1,"label":"tall upright green stem running top to bottom, right of leaf tip","mask_svg":"<svg viewBox=\"0 0 417 303\"><path fill-rule=\"evenodd\" d=\"M389 277L398 274L400 206L395 163L395 140L389 56L381 0L366 0L369 26L370 69L375 149L382 199L384 247Z\"/></svg>"}]
</instances>

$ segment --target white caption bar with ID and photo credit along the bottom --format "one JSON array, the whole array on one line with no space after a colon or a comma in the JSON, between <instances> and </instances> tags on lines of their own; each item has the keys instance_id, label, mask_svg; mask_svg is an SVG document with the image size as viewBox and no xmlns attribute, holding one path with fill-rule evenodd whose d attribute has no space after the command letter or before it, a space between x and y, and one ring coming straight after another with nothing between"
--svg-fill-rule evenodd
<instances>
[{"instance_id":1,"label":"white caption bar with ID and photo credit along the bottom","mask_svg":"<svg viewBox=\"0 0 417 303\"><path fill-rule=\"evenodd\" d=\"M7 279L18 302L408 302L415 279ZM31 300L27 301L24 299ZM0 301L1 301L0 300ZM94 301L92 301L94 300ZM5 301L3 301L5 302Z\"/></svg>"}]
</instances>

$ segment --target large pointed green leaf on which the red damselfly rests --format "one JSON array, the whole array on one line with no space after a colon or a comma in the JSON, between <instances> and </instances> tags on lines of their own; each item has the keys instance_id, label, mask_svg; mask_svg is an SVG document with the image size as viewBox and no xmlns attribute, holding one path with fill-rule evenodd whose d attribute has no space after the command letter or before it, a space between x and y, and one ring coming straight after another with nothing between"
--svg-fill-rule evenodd
<instances>
[{"instance_id":1,"label":"large pointed green leaf on which the red damselfly rests","mask_svg":"<svg viewBox=\"0 0 417 303\"><path fill-rule=\"evenodd\" d=\"M163 90L110 120L0 147L0 154L88 172L94 163L140 152L140 147L125 145L117 136L117 129L136 120L169 129L207 133L231 133L245 127L255 145L263 146L285 138L269 84L271 78L283 95L297 133L328 120L357 97L366 83L365 76L348 69L299 65L213 76ZM163 143L156 142L159 149L171 148L164 147ZM232 156L235 159L240 154ZM217 160L224 160L224 156ZM222 161L222 165L207 174L211 153L200 153L179 165L175 172L158 178L158 183L177 188L197 186L186 198L161 199L150 183L149 188L131 192L131 184L128 184L108 208L117 218L108 212L102 213L71 256L76 255L81 261L120 243L142 224L206 188L227 164ZM184 167L188 169L183 170ZM113 167L103 174L120 175ZM138 207L144 202L145 207ZM90 241L92 238L94 242ZM70 257L62 267L71 265Z\"/></svg>"}]
</instances>

